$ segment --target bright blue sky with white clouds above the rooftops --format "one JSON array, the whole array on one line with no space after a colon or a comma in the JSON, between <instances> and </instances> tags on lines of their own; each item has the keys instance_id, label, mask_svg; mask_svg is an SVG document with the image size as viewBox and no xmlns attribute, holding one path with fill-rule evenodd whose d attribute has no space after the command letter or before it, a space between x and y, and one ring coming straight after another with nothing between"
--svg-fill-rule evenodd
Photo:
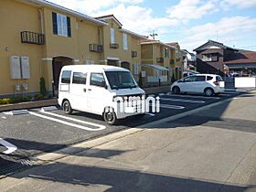
<instances>
[{"instance_id":1,"label":"bright blue sky with white clouds above the rooftops","mask_svg":"<svg viewBox=\"0 0 256 192\"><path fill-rule=\"evenodd\" d=\"M256 0L48 0L88 16L114 15L123 28L193 50L208 39L256 50Z\"/></svg>"}]
</instances>

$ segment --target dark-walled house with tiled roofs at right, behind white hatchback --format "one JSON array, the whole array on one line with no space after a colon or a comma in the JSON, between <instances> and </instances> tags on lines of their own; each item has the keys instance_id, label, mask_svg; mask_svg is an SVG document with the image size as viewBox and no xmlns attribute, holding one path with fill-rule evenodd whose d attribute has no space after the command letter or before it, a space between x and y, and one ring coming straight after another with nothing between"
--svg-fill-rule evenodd
<instances>
[{"instance_id":1,"label":"dark-walled house with tiled roofs at right, behind white hatchback","mask_svg":"<svg viewBox=\"0 0 256 192\"><path fill-rule=\"evenodd\" d=\"M207 43L196 48L197 71L201 73L219 74L222 76L253 75L256 69L255 52L230 48L217 41L208 40Z\"/></svg>"}]
</instances>

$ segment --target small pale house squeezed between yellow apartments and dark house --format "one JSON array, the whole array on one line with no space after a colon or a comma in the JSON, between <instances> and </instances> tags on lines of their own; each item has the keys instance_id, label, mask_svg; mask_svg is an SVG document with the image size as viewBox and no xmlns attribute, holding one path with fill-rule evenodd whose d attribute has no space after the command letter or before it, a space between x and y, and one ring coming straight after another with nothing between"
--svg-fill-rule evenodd
<instances>
[{"instance_id":1,"label":"small pale house squeezed between yellow apartments and dark house","mask_svg":"<svg viewBox=\"0 0 256 192\"><path fill-rule=\"evenodd\" d=\"M185 70L197 70L197 56L187 49L182 49Z\"/></svg>"}]
</instances>

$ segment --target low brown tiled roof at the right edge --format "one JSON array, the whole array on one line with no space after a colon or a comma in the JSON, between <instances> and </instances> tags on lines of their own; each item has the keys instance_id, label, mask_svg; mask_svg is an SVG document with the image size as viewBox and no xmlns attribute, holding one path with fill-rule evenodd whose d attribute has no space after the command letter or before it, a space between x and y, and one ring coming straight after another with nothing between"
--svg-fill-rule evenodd
<instances>
[{"instance_id":1,"label":"low brown tiled roof at the right edge","mask_svg":"<svg viewBox=\"0 0 256 192\"><path fill-rule=\"evenodd\" d=\"M256 63L256 51L254 52L238 52L230 55L224 61L224 64L246 64Z\"/></svg>"}]
</instances>

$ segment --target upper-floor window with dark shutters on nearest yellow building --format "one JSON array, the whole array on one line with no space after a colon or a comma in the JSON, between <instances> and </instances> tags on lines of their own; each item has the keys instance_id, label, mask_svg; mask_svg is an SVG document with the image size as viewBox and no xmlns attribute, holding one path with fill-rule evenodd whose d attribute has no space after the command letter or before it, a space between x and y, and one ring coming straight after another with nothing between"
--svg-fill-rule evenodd
<instances>
[{"instance_id":1,"label":"upper-floor window with dark shutters on nearest yellow building","mask_svg":"<svg viewBox=\"0 0 256 192\"><path fill-rule=\"evenodd\" d=\"M52 13L53 34L71 37L70 17Z\"/></svg>"}]
</instances>

